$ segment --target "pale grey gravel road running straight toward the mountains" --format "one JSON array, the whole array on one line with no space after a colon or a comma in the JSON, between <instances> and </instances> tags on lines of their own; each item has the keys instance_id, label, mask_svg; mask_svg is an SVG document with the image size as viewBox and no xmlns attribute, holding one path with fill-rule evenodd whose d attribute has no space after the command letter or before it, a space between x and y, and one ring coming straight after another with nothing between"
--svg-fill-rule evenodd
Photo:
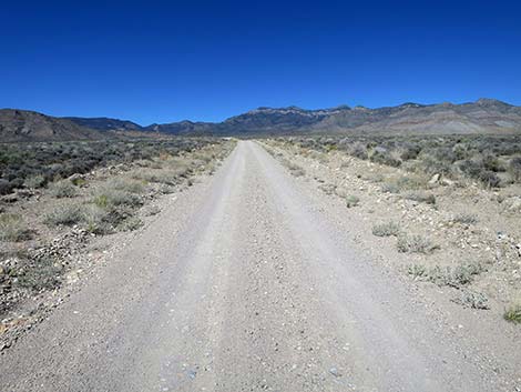
<instances>
[{"instance_id":1,"label":"pale grey gravel road running straight toward the mountains","mask_svg":"<svg viewBox=\"0 0 521 392\"><path fill-rule=\"evenodd\" d=\"M327 218L345 210L239 142L0 356L1 390L512 390Z\"/></svg>"}]
</instances>

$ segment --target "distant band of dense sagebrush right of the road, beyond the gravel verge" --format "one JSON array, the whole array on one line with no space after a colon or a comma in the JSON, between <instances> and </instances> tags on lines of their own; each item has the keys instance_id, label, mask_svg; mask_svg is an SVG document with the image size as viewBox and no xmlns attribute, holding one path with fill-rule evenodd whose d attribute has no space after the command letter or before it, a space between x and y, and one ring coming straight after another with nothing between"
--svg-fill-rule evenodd
<instances>
[{"instance_id":1,"label":"distant band of dense sagebrush right of the road, beyond the gravel verge","mask_svg":"<svg viewBox=\"0 0 521 392\"><path fill-rule=\"evenodd\" d=\"M308 151L343 151L361 160L401 168L420 178L468 179L486 188L521 182L520 135L295 137L278 141ZM391 190L418 188L408 183L389 185Z\"/></svg>"}]
</instances>

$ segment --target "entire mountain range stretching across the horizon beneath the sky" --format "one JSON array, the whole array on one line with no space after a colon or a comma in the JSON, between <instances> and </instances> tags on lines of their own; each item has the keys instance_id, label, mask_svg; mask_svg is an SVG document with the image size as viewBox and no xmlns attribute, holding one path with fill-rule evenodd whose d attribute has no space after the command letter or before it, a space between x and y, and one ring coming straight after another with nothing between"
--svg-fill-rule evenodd
<instances>
[{"instance_id":1,"label":"entire mountain range stretching across the horizon beneath the sky","mask_svg":"<svg viewBox=\"0 0 521 392\"><path fill-rule=\"evenodd\" d=\"M521 133L521 107L493 99L461 104L408 102L377 109L347 105L318 110L263 107L223 122L185 120L145 127L111 118L55 118L25 110L0 110L0 141L100 139L124 134L248 137L302 133Z\"/></svg>"}]
</instances>

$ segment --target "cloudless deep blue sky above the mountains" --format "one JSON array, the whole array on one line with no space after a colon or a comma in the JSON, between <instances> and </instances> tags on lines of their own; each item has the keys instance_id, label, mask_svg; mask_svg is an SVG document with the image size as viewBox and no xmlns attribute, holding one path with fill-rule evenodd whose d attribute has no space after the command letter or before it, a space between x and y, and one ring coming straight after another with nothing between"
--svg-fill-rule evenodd
<instances>
[{"instance_id":1,"label":"cloudless deep blue sky above the mountains","mask_svg":"<svg viewBox=\"0 0 521 392\"><path fill-rule=\"evenodd\" d=\"M6 1L0 108L142 124L259 107L521 104L520 1Z\"/></svg>"}]
</instances>

